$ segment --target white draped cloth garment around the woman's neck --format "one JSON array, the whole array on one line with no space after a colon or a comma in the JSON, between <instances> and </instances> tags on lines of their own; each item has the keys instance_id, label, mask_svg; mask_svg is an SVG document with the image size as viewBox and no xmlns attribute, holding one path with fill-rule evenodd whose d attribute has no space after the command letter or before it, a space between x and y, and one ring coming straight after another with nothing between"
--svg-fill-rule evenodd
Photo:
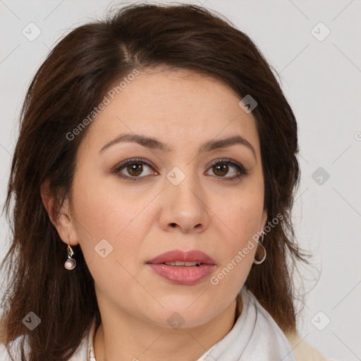
<instances>
[{"instance_id":1,"label":"white draped cloth garment around the woman's neck","mask_svg":"<svg viewBox=\"0 0 361 361\"><path fill-rule=\"evenodd\" d=\"M197 361L297 361L288 339L255 295L245 286L240 295L243 310L232 329ZM96 361L94 332L95 319L69 361ZM4 345L0 345L0 360L11 361Z\"/></svg>"}]
</instances>

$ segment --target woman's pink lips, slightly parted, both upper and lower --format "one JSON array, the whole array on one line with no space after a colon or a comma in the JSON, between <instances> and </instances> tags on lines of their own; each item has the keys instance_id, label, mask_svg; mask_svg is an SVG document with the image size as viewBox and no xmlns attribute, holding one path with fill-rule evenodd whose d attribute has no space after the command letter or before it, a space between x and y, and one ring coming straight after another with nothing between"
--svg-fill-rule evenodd
<instances>
[{"instance_id":1,"label":"woman's pink lips, slightly parted, both upper and lower","mask_svg":"<svg viewBox=\"0 0 361 361\"><path fill-rule=\"evenodd\" d=\"M165 252L150 259L147 266L161 278L187 286L202 281L216 269L214 259L199 250Z\"/></svg>"}]
</instances>

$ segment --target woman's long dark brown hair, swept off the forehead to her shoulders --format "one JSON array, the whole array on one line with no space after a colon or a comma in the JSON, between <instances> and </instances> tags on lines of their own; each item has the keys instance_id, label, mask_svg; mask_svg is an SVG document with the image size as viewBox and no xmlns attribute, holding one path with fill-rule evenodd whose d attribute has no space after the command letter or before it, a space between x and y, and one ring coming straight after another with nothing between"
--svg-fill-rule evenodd
<instances>
[{"instance_id":1,"label":"woman's long dark brown hair, swept off the forehead to her shoulders","mask_svg":"<svg viewBox=\"0 0 361 361\"><path fill-rule=\"evenodd\" d=\"M5 205L12 242L1 264L1 269L7 264L8 274L1 327L7 347L18 336L27 336L30 361L68 360L93 317L100 322L82 250L73 247L77 267L64 269L66 245L49 220L40 186L49 181L57 197L56 219L71 194L75 155L90 126L72 141L66 134L90 114L115 80L134 68L157 66L207 73L240 99L250 94L257 101L252 114L261 145L264 207L268 221L277 214L283 217L264 238L266 261L252 266L245 284L283 331L296 329L287 260L290 265L305 261L290 222L300 176L297 124L271 66L252 40L219 13L190 4L133 4L61 39L35 74L21 109ZM22 322L28 312L41 319L34 331ZM23 344L21 352L23 360Z\"/></svg>"}]
</instances>

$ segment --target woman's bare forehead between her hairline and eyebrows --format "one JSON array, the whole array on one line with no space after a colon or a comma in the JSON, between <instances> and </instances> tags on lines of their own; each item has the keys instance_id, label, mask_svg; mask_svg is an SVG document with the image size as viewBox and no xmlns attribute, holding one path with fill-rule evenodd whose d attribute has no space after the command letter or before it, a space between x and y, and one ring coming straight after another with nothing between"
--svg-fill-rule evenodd
<instances>
[{"instance_id":1,"label":"woman's bare forehead between her hairline and eyebrows","mask_svg":"<svg viewBox=\"0 0 361 361\"><path fill-rule=\"evenodd\" d=\"M157 68L132 78L118 90L122 80L114 82L113 96L106 94L109 104L92 124L92 145L102 147L126 131L197 146L237 133L259 147L255 117L240 108L238 94L221 80L185 69Z\"/></svg>"}]
</instances>

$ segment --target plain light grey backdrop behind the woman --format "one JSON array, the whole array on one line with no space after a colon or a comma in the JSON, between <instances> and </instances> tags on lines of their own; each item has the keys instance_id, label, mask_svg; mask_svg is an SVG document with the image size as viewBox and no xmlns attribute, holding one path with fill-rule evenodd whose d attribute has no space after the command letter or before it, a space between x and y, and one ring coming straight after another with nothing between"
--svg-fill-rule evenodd
<instances>
[{"instance_id":1,"label":"plain light grey backdrop behind the woman","mask_svg":"<svg viewBox=\"0 0 361 361\"><path fill-rule=\"evenodd\" d=\"M300 335L327 357L361 360L361 1L202 2L257 44L298 119L293 221L301 247L314 255L313 267L300 270L307 291ZM0 206L31 78L57 40L109 4L122 3L0 0ZM32 36L40 31L32 41L29 27ZM4 216L0 222L2 259L9 229Z\"/></svg>"}]
</instances>

